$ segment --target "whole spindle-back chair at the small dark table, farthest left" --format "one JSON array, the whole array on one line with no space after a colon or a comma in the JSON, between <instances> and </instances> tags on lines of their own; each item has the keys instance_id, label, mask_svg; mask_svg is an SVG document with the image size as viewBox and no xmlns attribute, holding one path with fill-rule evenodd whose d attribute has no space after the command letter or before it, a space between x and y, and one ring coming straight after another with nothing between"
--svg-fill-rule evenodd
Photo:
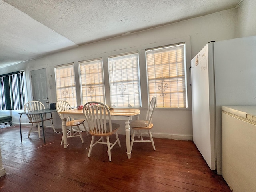
<instances>
[{"instance_id":1,"label":"whole spindle-back chair at the small dark table, farthest left","mask_svg":"<svg viewBox=\"0 0 256 192\"><path fill-rule=\"evenodd\" d=\"M24 105L25 112L36 111L36 110L41 110L41 109L45 109L45 107L44 107L44 104L42 104L42 102L39 102L39 101L30 101ZM27 117L29 119L29 123L31 123L31 127L28 132L28 138L29 138L31 132L38 132L38 136L39 136L39 138L41 138L41 132L40 132L42 130L40 128L40 122L42 122L41 116L40 115L27 115ZM56 132L56 130L52 124L52 119L53 119L52 117L46 118L46 114L44 114L44 116L43 116L43 121L49 120L53 131ZM32 130L34 124L37 124L37 126L38 126L37 130ZM47 128L47 126L44 126L44 128Z\"/></svg>"}]
</instances>

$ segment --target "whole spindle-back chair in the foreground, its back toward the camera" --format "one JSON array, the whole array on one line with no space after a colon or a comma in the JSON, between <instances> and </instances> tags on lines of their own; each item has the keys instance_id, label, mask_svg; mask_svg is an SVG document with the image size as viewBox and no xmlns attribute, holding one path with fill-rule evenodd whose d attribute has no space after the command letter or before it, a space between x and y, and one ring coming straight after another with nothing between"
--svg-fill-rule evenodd
<instances>
[{"instance_id":1,"label":"whole spindle-back chair in the foreground, its back toward the camera","mask_svg":"<svg viewBox=\"0 0 256 192\"><path fill-rule=\"evenodd\" d=\"M117 130L120 125L111 122L111 116L108 106L103 103L95 101L87 102L83 107L83 112L90 128L89 134L92 135L88 157L90 157L92 147L94 147L97 143L107 144L108 158L109 161L111 161L111 149L117 142L118 145L121 147L117 134ZM109 136L112 134L116 135L116 141L114 143L110 143L109 141ZM95 136L100 137L100 139L94 143ZM107 138L107 142L104 142L104 137Z\"/></svg>"}]
</instances>

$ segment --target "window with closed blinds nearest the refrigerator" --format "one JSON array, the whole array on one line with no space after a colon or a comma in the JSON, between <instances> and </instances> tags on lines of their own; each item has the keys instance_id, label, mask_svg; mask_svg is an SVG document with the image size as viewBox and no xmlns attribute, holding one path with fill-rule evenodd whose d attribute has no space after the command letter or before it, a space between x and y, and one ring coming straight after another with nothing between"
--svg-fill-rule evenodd
<instances>
[{"instance_id":1,"label":"window with closed blinds nearest the refrigerator","mask_svg":"<svg viewBox=\"0 0 256 192\"><path fill-rule=\"evenodd\" d=\"M157 108L187 108L185 43L146 50L148 96Z\"/></svg>"}]
</instances>

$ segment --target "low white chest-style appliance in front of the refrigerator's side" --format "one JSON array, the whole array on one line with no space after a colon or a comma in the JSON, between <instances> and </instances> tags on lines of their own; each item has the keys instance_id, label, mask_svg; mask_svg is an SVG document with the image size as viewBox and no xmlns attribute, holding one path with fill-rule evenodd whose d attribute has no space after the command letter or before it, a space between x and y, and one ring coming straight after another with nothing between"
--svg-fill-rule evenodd
<instances>
[{"instance_id":1,"label":"low white chest-style appliance in front of the refrigerator's side","mask_svg":"<svg viewBox=\"0 0 256 192\"><path fill-rule=\"evenodd\" d=\"M256 192L256 106L222 106L222 175L234 192Z\"/></svg>"}]
</instances>

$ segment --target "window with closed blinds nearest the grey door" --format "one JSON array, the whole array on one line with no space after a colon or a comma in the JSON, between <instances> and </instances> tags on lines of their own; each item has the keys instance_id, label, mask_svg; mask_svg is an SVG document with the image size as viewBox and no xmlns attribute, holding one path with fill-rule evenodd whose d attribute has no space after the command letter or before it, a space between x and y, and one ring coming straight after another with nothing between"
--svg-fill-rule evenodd
<instances>
[{"instance_id":1,"label":"window with closed blinds nearest the grey door","mask_svg":"<svg viewBox=\"0 0 256 192\"><path fill-rule=\"evenodd\" d=\"M57 100L66 100L71 107L76 107L74 63L55 67L54 70Z\"/></svg>"}]
</instances>

